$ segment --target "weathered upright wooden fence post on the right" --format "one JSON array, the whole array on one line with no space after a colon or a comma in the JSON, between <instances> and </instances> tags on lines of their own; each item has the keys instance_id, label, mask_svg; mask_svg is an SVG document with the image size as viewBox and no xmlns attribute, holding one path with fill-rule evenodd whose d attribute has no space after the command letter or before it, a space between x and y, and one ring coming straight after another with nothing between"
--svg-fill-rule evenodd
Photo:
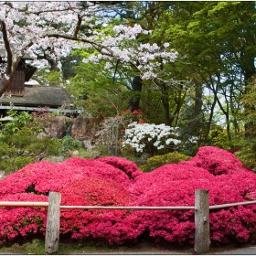
<instances>
[{"instance_id":1,"label":"weathered upright wooden fence post on the right","mask_svg":"<svg viewBox=\"0 0 256 256\"><path fill-rule=\"evenodd\" d=\"M195 243L194 251L197 253L209 252L209 206L208 190L195 191Z\"/></svg>"}]
</instances>

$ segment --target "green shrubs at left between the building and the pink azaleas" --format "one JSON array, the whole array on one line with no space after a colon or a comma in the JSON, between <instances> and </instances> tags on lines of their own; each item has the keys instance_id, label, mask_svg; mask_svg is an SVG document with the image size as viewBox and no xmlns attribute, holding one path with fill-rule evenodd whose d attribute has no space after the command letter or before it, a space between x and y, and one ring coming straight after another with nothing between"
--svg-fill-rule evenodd
<instances>
[{"instance_id":1,"label":"green shrubs at left between the building and the pink azaleas","mask_svg":"<svg viewBox=\"0 0 256 256\"><path fill-rule=\"evenodd\" d=\"M12 121L2 123L0 136L0 171L5 175L25 165L45 159L48 156L66 155L70 150L80 148L80 142L71 136L62 139L37 137L51 127L55 115L50 112L17 112L13 109L7 114Z\"/></svg>"}]
</instances>

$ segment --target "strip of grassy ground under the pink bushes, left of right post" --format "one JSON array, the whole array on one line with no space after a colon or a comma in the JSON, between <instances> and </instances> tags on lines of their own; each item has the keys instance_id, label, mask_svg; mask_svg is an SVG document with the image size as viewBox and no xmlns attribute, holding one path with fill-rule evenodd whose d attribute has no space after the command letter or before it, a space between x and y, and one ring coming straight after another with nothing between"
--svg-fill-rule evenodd
<instances>
[{"instance_id":1,"label":"strip of grassy ground under the pink bushes, left of right post","mask_svg":"<svg viewBox=\"0 0 256 256\"><path fill-rule=\"evenodd\" d=\"M77 255L77 254L137 254L145 251L161 252L161 254L168 254L169 251L190 251L193 252L193 246L176 246L168 242L155 243L154 238L148 235L143 235L136 242L127 242L123 245L109 245L104 240L70 240L60 236L59 238L59 251L52 253L52 255ZM30 237L7 242L0 245L0 254L33 254L42 255L45 252L45 239L44 237ZM158 253L159 254L159 253ZM192 253L191 253L192 254Z\"/></svg>"}]
</instances>

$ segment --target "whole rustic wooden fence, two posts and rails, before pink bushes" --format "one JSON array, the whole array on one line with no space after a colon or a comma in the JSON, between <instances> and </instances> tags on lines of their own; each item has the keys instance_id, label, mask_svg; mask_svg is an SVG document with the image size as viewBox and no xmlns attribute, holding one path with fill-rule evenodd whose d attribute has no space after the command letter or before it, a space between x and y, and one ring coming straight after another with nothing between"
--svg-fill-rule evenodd
<instances>
[{"instance_id":1,"label":"whole rustic wooden fence, two posts and rails, before pink bushes","mask_svg":"<svg viewBox=\"0 0 256 256\"><path fill-rule=\"evenodd\" d=\"M194 251L198 254L208 253L209 238L209 210L229 208L240 205L256 204L256 201L246 201L232 204L209 206L208 190L196 189L194 207L102 207L102 206L60 206L61 194L49 192L48 202L4 202L0 201L0 207L48 207L48 220L46 229L45 251L54 253L59 250L59 223L61 208L83 209L133 209L133 210L195 210L195 242Z\"/></svg>"}]
</instances>

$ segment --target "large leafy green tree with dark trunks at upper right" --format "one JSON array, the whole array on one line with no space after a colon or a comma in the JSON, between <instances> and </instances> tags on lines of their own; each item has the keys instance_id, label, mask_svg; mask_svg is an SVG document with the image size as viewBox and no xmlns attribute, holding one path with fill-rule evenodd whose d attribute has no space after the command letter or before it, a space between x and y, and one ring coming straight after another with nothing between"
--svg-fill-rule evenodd
<instances>
[{"instance_id":1,"label":"large leafy green tree with dark trunks at upper right","mask_svg":"<svg viewBox=\"0 0 256 256\"><path fill-rule=\"evenodd\" d=\"M195 115L202 106L202 90L207 88L214 96L208 133L219 105L230 140L230 124L237 132L240 127L237 99L255 72L255 3L172 2L162 19L161 30L183 57L186 74L197 88ZM225 101L219 100L221 94Z\"/></svg>"}]
</instances>

